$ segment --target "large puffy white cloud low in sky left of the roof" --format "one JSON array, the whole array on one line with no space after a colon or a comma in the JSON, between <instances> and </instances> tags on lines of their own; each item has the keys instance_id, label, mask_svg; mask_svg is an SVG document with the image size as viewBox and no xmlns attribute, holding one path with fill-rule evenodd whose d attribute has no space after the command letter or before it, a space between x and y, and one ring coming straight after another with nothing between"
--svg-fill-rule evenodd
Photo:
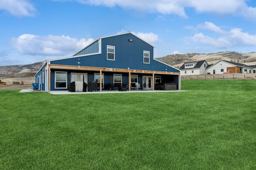
<instances>
[{"instance_id":1,"label":"large puffy white cloud low in sky left of the roof","mask_svg":"<svg viewBox=\"0 0 256 170\"><path fill-rule=\"evenodd\" d=\"M74 39L68 36L23 34L10 40L10 45L24 55L72 55L90 44L93 39Z\"/></svg>"}]
</instances>

